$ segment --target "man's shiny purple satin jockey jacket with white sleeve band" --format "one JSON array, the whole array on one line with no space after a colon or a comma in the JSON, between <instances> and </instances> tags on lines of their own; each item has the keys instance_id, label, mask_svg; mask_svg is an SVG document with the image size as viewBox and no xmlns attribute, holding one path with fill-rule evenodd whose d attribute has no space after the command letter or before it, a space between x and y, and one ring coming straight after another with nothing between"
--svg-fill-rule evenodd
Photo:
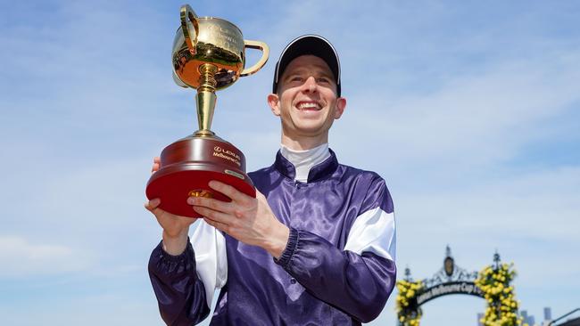
<instances>
[{"instance_id":1,"label":"man's shiny purple satin jockey jacket with white sleeve band","mask_svg":"<svg viewBox=\"0 0 580 326\"><path fill-rule=\"evenodd\" d=\"M228 279L211 325L360 325L381 313L396 275L393 200L379 175L330 154L308 183L294 181L279 151L271 167L249 174L290 237L278 260L224 234ZM170 256L160 243L149 274L168 325L210 313L191 244Z\"/></svg>"}]
</instances>

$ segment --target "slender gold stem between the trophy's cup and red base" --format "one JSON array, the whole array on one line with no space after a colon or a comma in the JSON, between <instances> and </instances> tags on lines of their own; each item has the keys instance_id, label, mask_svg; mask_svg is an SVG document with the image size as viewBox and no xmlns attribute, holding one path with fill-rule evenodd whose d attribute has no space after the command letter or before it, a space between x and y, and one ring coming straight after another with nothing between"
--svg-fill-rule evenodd
<instances>
[{"instance_id":1,"label":"slender gold stem between the trophy's cup and red base","mask_svg":"<svg viewBox=\"0 0 580 326\"><path fill-rule=\"evenodd\" d=\"M208 136L213 135L210 128L217 100L215 91L218 83L215 80L214 75L218 71L218 67L210 63L203 63L203 65L199 67L199 70L201 73L199 77L200 86L197 87L197 94L195 95L199 130L197 130L195 134Z\"/></svg>"}]
</instances>

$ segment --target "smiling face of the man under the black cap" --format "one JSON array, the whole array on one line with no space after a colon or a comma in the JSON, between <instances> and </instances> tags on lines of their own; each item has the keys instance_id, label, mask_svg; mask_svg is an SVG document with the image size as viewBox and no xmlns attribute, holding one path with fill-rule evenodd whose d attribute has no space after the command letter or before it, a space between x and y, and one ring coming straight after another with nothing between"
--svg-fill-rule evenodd
<instances>
[{"instance_id":1,"label":"smiling face of the man under the black cap","mask_svg":"<svg viewBox=\"0 0 580 326\"><path fill-rule=\"evenodd\" d=\"M270 94L269 106L282 122L282 143L307 150L328 142L328 130L340 118L346 100L336 97L335 78L325 61L302 55L291 61Z\"/></svg>"}]
</instances>

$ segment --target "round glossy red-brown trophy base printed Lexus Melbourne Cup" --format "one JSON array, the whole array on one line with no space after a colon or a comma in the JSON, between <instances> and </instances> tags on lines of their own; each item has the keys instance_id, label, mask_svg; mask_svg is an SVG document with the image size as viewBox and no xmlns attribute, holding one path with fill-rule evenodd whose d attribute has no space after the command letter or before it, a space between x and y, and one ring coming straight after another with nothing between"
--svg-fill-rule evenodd
<instances>
[{"instance_id":1,"label":"round glossy red-brown trophy base printed Lexus Melbourne Cup","mask_svg":"<svg viewBox=\"0 0 580 326\"><path fill-rule=\"evenodd\" d=\"M161 167L151 175L145 193L149 200L162 200L159 207L171 214L201 217L187 204L188 197L231 201L210 188L211 180L256 197L252 180L245 174L244 154L215 135L191 135L167 146L162 151Z\"/></svg>"}]
</instances>

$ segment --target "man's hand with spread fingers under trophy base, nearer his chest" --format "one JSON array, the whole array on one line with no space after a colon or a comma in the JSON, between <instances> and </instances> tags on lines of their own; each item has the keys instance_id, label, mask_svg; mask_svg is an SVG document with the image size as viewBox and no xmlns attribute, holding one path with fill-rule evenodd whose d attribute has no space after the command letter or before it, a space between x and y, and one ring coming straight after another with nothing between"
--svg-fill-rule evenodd
<instances>
[{"instance_id":1,"label":"man's hand with spread fingers under trophy base, nearer his chest","mask_svg":"<svg viewBox=\"0 0 580 326\"><path fill-rule=\"evenodd\" d=\"M253 198L218 181L211 181L209 185L232 201L189 197L187 203L205 216L203 220L237 240L259 246L279 258L286 249L290 230L274 216L264 195L256 191L256 198Z\"/></svg>"}]
</instances>

